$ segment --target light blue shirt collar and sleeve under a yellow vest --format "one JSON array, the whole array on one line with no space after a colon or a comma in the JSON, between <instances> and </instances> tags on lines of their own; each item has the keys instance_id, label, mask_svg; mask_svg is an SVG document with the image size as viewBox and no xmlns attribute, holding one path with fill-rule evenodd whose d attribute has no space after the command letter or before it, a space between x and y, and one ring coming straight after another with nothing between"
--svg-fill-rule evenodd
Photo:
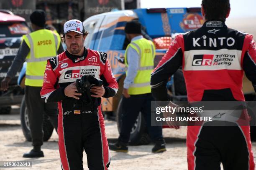
<instances>
[{"instance_id":1,"label":"light blue shirt collar and sleeve under a yellow vest","mask_svg":"<svg viewBox=\"0 0 256 170\"><path fill-rule=\"evenodd\" d=\"M135 40L139 40L141 38L143 38L142 35L133 37L131 42ZM125 89L128 89L133 84L133 80L136 77L138 72L139 55L138 55L138 52L134 50L132 47L129 47L127 49L126 55L127 55L126 57L128 62L128 68L127 68L127 75L125 77L123 87Z\"/></svg>"}]
</instances>

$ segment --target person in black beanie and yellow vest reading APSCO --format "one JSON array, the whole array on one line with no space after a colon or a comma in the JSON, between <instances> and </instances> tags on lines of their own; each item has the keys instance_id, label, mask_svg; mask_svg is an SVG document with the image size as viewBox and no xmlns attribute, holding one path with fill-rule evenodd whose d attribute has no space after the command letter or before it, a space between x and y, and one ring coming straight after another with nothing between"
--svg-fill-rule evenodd
<instances>
[{"instance_id":1,"label":"person in black beanie and yellow vest reading APSCO","mask_svg":"<svg viewBox=\"0 0 256 170\"><path fill-rule=\"evenodd\" d=\"M25 158L44 157L44 153L41 151L44 113L49 116L54 128L57 129L58 127L57 104L44 103L41 100L40 91L44 81L47 59L64 51L59 35L51 30L44 29L46 14L43 10L35 10L31 14L30 20L33 32L23 36L13 64L7 72L7 76L1 82L1 89L7 90L11 78L15 76L26 60L25 99L33 149L23 155Z\"/></svg>"}]
</instances>

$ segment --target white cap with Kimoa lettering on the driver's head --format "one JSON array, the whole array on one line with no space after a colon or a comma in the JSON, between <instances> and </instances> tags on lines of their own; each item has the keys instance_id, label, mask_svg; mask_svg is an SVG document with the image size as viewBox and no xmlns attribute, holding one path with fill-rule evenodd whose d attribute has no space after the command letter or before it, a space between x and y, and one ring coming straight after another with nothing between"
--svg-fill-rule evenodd
<instances>
[{"instance_id":1,"label":"white cap with Kimoa lettering on the driver's head","mask_svg":"<svg viewBox=\"0 0 256 170\"><path fill-rule=\"evenodd\" d=\"M84 33L84 26L83 23L79 20L69 20L64 24L63 27L64 34L67 34L67 32L74 31L77 32L78 34L83 34Z\"/></svg>"}]
</instances>

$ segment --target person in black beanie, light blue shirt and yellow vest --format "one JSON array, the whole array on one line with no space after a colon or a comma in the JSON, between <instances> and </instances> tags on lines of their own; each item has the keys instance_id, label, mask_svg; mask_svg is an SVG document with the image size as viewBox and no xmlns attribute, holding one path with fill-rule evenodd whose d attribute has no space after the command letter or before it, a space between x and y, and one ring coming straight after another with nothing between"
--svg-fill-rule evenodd
<instances>
[{"instance_id":1,"label":"person in black beanie, light blue shirt and yellow vest","mask_svg":"<svg viewBox=\"0 0 256 170\"><path fill-rule=\"evenodd\" d=\"M146 120L148 133L154 142L153 153L166 151L161 126L151 126L150 77L154 69L155 47L141 35L141 23L136 20L125 25L125 33L131 43L125 50L126 77L123 85L122 127L118 142L110 144L110 150L128 152L131 129L139 112Z\"/></svg>"}]
</instances>

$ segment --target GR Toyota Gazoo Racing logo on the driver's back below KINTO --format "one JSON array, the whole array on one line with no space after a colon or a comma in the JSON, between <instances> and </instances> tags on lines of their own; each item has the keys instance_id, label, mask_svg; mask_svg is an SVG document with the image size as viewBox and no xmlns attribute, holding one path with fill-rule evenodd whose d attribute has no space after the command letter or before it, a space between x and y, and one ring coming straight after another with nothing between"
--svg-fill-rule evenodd
<instances>
[{"instance_id":1,"label":"GR Toyota Gazoo Racing logo on the driver's back below KINTO","mask_svg":"<svg viewBox=\"0 0 256 170\"><path fill-rule=\"evenodd\" d=\"M193 66L231 65L236 55L194 55Z\"/></svg>"}]
</instances>

